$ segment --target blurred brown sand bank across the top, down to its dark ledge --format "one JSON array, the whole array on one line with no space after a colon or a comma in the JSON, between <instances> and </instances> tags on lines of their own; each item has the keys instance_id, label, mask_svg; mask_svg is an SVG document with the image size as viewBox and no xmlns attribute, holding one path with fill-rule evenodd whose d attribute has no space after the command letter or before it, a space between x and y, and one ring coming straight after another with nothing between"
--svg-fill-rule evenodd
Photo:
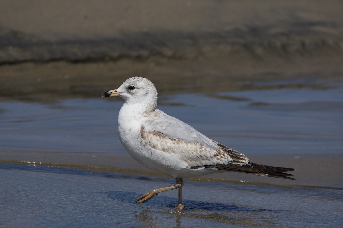
<instances>
[{"instance_id":1,"label":"blurred brown sand bank across the top, down to its dark ledge","mask_svg":"<svg viewBox=\"0 0 343 228\"><path fill-rule=\"evenodd\" d=\"M0 4L0 65L215 58L276 66L320 56L322 67L340 67L343 59L341 1Z\"/></svg>"}]
</instances>

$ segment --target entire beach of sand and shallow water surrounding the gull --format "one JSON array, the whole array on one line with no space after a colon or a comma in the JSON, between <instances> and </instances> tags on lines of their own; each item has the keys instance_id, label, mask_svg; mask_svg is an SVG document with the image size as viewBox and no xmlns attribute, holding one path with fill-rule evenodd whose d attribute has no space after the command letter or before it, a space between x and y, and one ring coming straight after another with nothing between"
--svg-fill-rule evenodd
<instances>
[{"instance_id":1,"label":"entire beach of sand and shallow water surrounding the gull","mask_svg":"<svg viewBox=\"0 0 343 228\"><path fill-rule=\"evenodd\" d=\"M0 227L340 227L341 1L0 3ZM183 214L177 191L135 204L175 183L127 154L124 101L101 98L133 76L296 180L223 172L185 179Z\"/></svg>"}]
</instances>

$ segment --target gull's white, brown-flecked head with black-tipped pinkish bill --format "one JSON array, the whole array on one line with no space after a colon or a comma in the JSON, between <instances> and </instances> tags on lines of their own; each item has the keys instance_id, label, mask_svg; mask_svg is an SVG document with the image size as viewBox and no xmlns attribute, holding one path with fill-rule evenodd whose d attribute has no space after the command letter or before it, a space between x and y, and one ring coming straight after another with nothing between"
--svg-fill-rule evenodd
<instances>
[{"instance_id":1,"label":"gull's white, brown-flecked head with black-tipped pinkish bill","mask_svg":"<svg viewBox=\"0 0 343 228\"><path fill-rule=\"evenodd\" d=\"M126 103L153 103L157 105L157 90L155 85L146 78L133 77L126 80L118 89L107 91L102 97L120 96Z\"/></svg>"}]
</instances>

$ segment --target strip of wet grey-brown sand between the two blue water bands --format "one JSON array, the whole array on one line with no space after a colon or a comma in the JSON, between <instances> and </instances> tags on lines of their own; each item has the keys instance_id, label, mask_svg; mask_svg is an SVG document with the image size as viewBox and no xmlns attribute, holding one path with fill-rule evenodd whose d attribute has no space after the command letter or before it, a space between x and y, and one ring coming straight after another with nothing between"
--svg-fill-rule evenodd
<instances>
[{"instance_id":1,"label":"strip of wet grey-brown sand between the two blue water bands","mask_svg":"<svg viewBox=\"0 0 343 228\"><path fill-rule=\"evenodd\" d=\"M285 180L281 178L260 177L241 173L217 173L206 177L223 178L225 180L236 180L254 184L282 184L288 187L323 187L343 189L343 172L340 165L343 156L336 154L248 154L247 157L256 163L280 167L295 168L290 172L296 180ZM33 162L50 163L58 166L64 164L70 168L95 169L94 166L114 167L125 169L123 172L133 172L141 175L155 175L151 170L139 164L127 154L111 153L82 153L82 152L54 152L54 151L0 151L0 163L15 163L34 165ZM24 163L26 162L26 163ZM76 165L76 166L73 166ZM80 166L81 165L81 166ZM126 170L128 169L128 170ZM130 170L130 171L129 171ZM173 182L171 178L171 182Z\"/></svg>"}]
</instances>

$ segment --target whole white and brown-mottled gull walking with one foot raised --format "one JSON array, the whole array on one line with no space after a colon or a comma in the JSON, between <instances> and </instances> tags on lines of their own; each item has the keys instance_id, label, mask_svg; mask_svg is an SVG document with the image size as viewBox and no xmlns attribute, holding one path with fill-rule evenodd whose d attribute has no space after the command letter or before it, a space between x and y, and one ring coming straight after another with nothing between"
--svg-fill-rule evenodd
<instances>
[{"instance_id":1,"label":"whole white and brown-mottled gull walking with one foot raised","mask_svg":"<svg viewBox=\"0 0 343 228\"><path fill-rule=\"evenodd\" d=\"M118 115L118 135L129 155L145 167L172 176L176 184L153 189L135 200L146 202L158 193L179 191L176 210L183 210L183 178L218 172L239 172L259 176L293 179L292 168L250 162L234 149L201 134L187 123L156 108L157 90L148 79L127 79L118 89L102 97L120 96L125 100Z\"/></svg>"}]
</instances>

